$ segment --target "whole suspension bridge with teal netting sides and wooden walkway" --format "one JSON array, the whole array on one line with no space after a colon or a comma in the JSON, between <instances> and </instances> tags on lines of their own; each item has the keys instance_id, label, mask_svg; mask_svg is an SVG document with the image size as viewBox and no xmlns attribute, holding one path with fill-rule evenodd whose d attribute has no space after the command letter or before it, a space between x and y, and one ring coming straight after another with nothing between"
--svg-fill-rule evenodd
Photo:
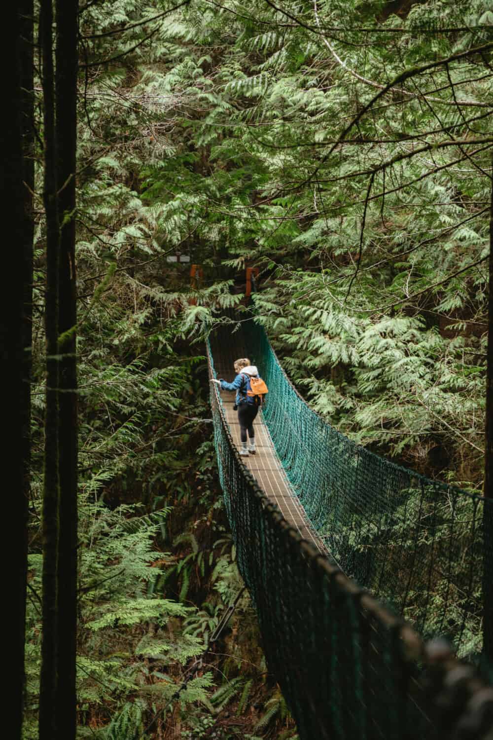
<instances>
[{"instance_id":1,"label":"whole suspension bridge with teal netting sides and wooden walkway","mask_svg":"<svg viewBox=\"0 0 493 740\"><path fill-rule=\"evenodd\" d=\"M493 740L484 653L483 672L473 665L491 593L483 522L493 502L336 431L248 312L211 332L211 377L230 379L237 357L259 367L268 402L257 454L243 458L234 397L211 384L220 481L268 666L300 738Z\"/></svg>"}]
</instances>

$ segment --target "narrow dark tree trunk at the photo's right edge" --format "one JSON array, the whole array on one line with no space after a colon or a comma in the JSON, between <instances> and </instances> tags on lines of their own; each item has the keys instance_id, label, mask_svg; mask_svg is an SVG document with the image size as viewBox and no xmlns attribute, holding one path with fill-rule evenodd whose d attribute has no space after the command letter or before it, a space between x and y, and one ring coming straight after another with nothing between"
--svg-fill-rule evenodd
<instances>
[{"instance_id":1,"label":"narrow dark tree trunk at the photo's right edge","mask_svg":"<svg viewBox=\"0 0 493 740\"><path fill-rule=\"evenodd\" d=\"M492 157L493 165L493 157ZM493 174L493 173L492 173ZM489 218L488 356L484 466L483 650L493 663L493 180Z\"/></svg>"}]
</instances>

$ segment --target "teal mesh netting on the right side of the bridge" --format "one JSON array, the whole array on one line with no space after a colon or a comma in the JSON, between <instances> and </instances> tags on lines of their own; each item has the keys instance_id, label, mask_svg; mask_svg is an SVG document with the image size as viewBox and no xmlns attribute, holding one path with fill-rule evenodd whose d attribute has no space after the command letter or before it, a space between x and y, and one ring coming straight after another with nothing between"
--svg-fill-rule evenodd
<instances>
[{"instance_id":1,"label":"teal mesh netting on the right side of the bridge","mask_svg":"<svg viewBox=\"0 0 493 740\"><path fill-rule=\"evenodd\" d=\"M340 567L460 654L481 649L482 497L429 480L353 443L288 380L262 326L243 324L268 388L264 419L307 516ZM490 505L493 502L488 502Z\"/></svg>"}]
</instances>

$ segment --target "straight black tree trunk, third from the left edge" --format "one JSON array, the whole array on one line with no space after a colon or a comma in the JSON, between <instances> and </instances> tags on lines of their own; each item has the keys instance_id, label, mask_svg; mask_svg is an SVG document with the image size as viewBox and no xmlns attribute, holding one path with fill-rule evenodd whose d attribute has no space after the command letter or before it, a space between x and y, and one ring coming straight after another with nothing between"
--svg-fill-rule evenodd
<instances>
[{"instance_id":1,"label":"straight black tree trunk, third from the left edge","mask_svg":"<svg viewBox=\"0 0 493 740\"><path fill-rule=\"evenodd\" d=\"M75 148L77 142L78 0L56 0L56 144L60 218L60 536L58 541L57 730L75 738L77 645L77 360L75 287Z\"/></svg>"}]
</instances>

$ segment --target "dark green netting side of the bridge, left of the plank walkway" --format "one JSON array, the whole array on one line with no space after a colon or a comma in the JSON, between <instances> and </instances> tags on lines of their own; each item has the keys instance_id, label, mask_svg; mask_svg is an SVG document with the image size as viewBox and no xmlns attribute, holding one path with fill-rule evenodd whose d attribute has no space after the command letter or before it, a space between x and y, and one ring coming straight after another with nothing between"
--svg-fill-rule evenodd
<instances>
[{"instance_id":1,"label":"dark green netting side of the bridge, left of the plank walkway","mask_svg":"<svg viewBox=\"0 0 493 740\"><path fill-rule=\"evenodd\" d=\"M216 386L211 405L237 564L300 738L488 740L493 689L299 537L243 465Z\"/></svg>"}]
</instances>

